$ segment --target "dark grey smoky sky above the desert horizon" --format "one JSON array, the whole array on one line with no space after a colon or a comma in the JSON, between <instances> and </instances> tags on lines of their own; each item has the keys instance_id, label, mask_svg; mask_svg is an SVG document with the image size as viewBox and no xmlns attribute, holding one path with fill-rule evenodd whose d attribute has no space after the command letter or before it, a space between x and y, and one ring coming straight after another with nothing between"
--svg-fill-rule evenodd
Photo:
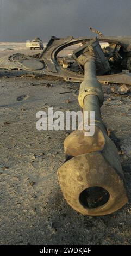
<instances>
[{"instance_id":1,"label":"dark grey smoky sky above the desert horizon","mask_svg":"<svg viewBox=\"0 0 131 256\"><path fill-rule=\"evenodd\" d=\"M0 0L0 41L92 36L89 26L104 35L131 36L131 1Z\"/></svg>"}]
</instances>

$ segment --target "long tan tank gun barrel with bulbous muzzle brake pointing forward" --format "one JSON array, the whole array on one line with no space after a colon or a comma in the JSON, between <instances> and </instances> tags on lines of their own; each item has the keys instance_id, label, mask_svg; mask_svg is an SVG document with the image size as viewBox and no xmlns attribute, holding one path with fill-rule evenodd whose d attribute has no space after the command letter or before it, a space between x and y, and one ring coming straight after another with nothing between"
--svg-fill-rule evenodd
<instances>
[{"instance_id":1,"label":"long tan tank gun barrel with bulbous muzzle brake pointing forward","mask_svg":"<svg viewBox=\"0 0 131 256\"><path fill-rule=\"evenodd\" d=\"M83 111L95 112L95 133L85 136L84 126L82 131L73 131L65 139L66 162L58 169L61 190L68 204L83 215L110 214L126 204L128 198L117 149L101 120L103 92L96 79L93 57L86 59L78 100ZM89 194L96 189L102 196L96 194L98 206L92 206L94 200L90 201Z\"/></svg>"}]
</instances>

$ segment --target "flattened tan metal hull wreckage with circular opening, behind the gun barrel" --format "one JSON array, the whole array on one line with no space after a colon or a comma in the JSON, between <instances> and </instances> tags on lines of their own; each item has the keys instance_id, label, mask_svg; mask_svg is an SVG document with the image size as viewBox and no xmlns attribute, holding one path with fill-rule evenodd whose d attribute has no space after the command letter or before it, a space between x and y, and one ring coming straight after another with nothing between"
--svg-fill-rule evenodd
<instances>
[{"instance_id":1,"label":"flattened tan metal hull wreckage with circular opening, behind the gun barrel","mask_svg":"<svg viewBox=\"0 0 131 256\"><path fill-rule=\"evenodd\" d=\"M73 36L68 36L67 38L56 38L55 36L52 36L39 57L35 58L21 53L13 55L8 54L8 56L0 58L0 68L8 70L24 70L29 74L33 73L38 75L57 76L63 77L66 81L82 82L84 80L82 70L72 71L68 62L66 62L66 67L63 68L64 63L63 66L61 66L58 62L58 53L68 46L83 44L83 42L86 44L91 40L92 38L73 38ZM107 54L107 57L105 57L107 58L110 69L113 70L113 73L117 72L117 70L115 70L116 63L118 63L120 74L122 69L131 70L131 38L121 36L102 36L97 40L99 42L108 42L109 44L109 47L105 48L103 52L105 55ZM79 66L77 59L73 61ZM101 77L98 75L97 78L99 81L104 81L104 83L106 83L106 81L108 82L111 80L110 76L113 76L110 73L111 71L108 71L106 74L103 74L104 76ZM115 83L115 75L117 76L117 74L114 74L113 83ZM124 80L126 79L124 78ZM129 82L122 81L121 83L128 84Z\"/></svg>"}]
</instances>

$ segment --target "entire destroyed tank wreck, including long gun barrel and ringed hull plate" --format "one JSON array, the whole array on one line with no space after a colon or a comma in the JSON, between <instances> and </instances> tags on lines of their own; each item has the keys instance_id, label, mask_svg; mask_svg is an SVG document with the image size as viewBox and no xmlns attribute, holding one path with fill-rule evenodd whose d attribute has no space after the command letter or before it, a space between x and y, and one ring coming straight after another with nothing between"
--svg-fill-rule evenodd
<instances>
[{"instance_id":1,"label":"entire destroyed tank wreck, including long gun barrel and ringed hull plate","mask_svg":"<svg viewBox=\"0 0 131 256\"><path fill-rule=\"evenodd\" d=\"M76 48L71 54L60 56L62 50L72 45ZM0 69L81 82L78 102L83 116L84 112L93 112L94 116L92 123L91 117L86 117L80 130L65 138L65 162L58 169L61 190L68 204L83 215L107 215L125 205L128 196L124 173L117 148L101 118L101 106L102 83L131 85L131 38L52 36L42 53L34 56L15 53L0 58ZM87 131L92 134L85 135ZM87 202L90 194L101 195L101 192L98 204L94 200L93 206L90 200Z\"/></svg>"}]
</instances>

